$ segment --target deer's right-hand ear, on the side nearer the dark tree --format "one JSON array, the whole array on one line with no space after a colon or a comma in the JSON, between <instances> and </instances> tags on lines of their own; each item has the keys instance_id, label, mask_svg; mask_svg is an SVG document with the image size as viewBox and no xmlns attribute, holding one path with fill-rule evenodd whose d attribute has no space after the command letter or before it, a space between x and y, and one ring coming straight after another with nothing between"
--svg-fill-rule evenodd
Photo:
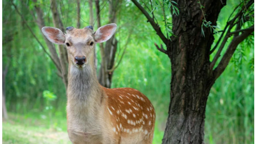
<instances>
[{"instance_id":1,"label":"deer's right-hand ear, on the side nearer the dark tree","mask_svg":"<svg viewBox=\"0 0 256 144\"><path fill-rule=\"evenodd\" d=\"M94 39L96 43L103 43L111 38L114 35L116 30L116 24L111 23L106 26L102 26L97 29L94 34Z\"/></svg>"}]
</instances>

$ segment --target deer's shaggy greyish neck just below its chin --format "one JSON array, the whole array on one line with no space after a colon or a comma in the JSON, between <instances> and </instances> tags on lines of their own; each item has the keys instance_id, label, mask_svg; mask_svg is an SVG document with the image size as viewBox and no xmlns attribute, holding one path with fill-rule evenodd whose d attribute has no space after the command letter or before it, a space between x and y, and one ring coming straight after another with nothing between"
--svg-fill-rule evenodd
<instances>
[{"instance_id":1,"label":"deer's shaggy greyish neck just below its chin","mask_svg":"<svg viewBox=\"0 0 256 144\"><path fill-rule=\"evenodd\" d=\"M68 72L68 102L88 103L98 102L101 99L100 84L97 80L96 69L94 65L85 65L84 68L77 68L75 65L69 65Z\"/></svg>"}]
</instances>

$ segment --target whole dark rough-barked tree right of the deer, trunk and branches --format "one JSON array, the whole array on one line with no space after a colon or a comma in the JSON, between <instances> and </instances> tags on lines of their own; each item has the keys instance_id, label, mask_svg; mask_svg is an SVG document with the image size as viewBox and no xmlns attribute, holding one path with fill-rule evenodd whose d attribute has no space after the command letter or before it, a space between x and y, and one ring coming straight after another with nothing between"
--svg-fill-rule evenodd
<instances>
[{"instance_id":1,"label":"whole dark rough-barked tree right of the deer, trunk and branches","mask_svg":"<svg viewBox=\"0 0 256 144\"><path fill-rule=\"evenodd\" d=\"M225 70L238 44L246 39L254 28L252 26L241 30L238 17L241 17L243 9L239 10L232 20L228 20L226 27L229 28L225 28L221 36L221 38L224 36L224 40L214 60L210 61L210 54L218 47L219 42L211 51L213 33L209 28L204 28L205 37L201 34L203 13L206 14L206 20L211 21L212 26L216 26L218 15L225 6L226 0L204 0L201 2L205 7L203 12L197 0L174 1L180 6L180 14L172 15L172 31L177 38L172 36L171 41L163 35L158 24L154 22L154 13L152 13L153 17L150 17L137 0L132 0L153 26L167 50L163 49L162 44L160 48L155 44L156 48L167 54L172 64L171 102L163 144L203 144L205 109L211 87ZM250 7L252 3L254 3L253 0L250 0L246 7ZM234 26L236 26L236 31L230 32ZM238 35L239 33L241 34ZM219 65L213 69L231 35L233 39L228 49Z\"/></svg>"}]
</instances>

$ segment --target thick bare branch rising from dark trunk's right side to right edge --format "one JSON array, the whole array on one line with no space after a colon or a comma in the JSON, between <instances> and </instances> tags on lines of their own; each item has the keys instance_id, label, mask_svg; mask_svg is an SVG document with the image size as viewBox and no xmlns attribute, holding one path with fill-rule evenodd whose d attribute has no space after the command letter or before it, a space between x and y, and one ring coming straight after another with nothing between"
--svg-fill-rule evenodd
<instances>
[{"instance_id":1,"label":"thick bare branch rising from dark trunk's right side to right edge","mask_svg":"<svg viewBox=\"0 0 256 144\"><path fill-rule=\"evenodd\" d=\"M241 35L238 35L232 40L232 42L228 46L227 51L222 57L221 62L213 71L214 79L217 79L223 73L223 71L229 64L230 59L233 56L238 44L240 44L244 39L246 39L253 31L254 31L254 25L248 28L247 31L244 31Z\"/></svg>"}]
</instances>

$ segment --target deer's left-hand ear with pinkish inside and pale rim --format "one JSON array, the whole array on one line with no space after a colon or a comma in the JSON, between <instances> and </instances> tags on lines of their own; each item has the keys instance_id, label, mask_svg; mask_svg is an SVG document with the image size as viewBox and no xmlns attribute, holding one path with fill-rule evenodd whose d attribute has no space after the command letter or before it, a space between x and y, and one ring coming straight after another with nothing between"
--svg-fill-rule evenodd
<instances>
[{"instance_id":1,"label":"deer's left-hand ear with pinkish inside and pale rim","mask_svg":"<svg viewBox=\"0 0 256 144\"><path fill-rule=\"evenodd\" d=\"M54 27L43 27L42 28L43 34L49 39L50 42L54 44L64 44L65 43L65 35L64 33L57 28Z\"/></svg>"}]
</instances>

